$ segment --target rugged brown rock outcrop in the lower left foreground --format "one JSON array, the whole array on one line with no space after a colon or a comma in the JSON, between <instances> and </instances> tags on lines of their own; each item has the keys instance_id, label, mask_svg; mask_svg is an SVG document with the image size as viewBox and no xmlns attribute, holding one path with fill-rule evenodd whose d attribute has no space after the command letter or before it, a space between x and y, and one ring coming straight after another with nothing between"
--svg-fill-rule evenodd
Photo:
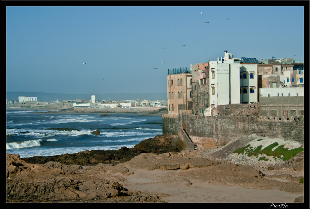
<instances>
[{"instance_id":1,"label":"rugged brown rock outcrop in the lower left foreground","mask_svg":"<svg viewBox=\"0 0 310 209\"><path fill-rule=\"evenodd\" d=\"M19 155L7 154L7 202L104 202L108 198L121 198L121 202L163 202L156 195L126 189L115 180L91 177L94 171L106 173L110 168L103 164L88 169L60 162L28 164Z\"/></svg>"}]
</instances>

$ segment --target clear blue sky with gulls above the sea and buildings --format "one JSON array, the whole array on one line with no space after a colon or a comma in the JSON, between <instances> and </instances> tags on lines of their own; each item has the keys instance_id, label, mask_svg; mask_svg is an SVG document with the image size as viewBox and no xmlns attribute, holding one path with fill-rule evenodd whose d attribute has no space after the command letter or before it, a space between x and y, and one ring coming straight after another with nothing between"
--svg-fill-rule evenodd
<instances>
[{"instance_id":1,"label":"clear blue sky with gulls above the sea and buildings","mask_svg":"<svg viewBox=\"0 0 310 209\"><path fill-rule=\"evenodd\" d=\"M304 58L302 6L10 6L6 18L7 91L166 92L168 69L225 50Z\"/></svg>"}]
</instances>

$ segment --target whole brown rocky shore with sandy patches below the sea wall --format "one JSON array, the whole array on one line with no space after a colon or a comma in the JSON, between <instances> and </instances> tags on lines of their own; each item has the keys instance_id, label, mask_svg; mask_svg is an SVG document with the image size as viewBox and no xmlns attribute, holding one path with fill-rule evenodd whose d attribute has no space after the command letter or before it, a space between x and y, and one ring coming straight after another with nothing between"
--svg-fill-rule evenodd
<instances>
[{"instance_id":1,"label":"whole brown rocky shore with sandy patches below the sea wall","mask_svg":"<svg viewBox=\"0 0 310 209\"><path fill-rule=\"evenodd\" d=\"M228 148L188 150L171 135L130 149L7 154L7 202L303 202L303 151L274 165L256 158L249 165L232 160Z\"/></svg>"}]
</instances>

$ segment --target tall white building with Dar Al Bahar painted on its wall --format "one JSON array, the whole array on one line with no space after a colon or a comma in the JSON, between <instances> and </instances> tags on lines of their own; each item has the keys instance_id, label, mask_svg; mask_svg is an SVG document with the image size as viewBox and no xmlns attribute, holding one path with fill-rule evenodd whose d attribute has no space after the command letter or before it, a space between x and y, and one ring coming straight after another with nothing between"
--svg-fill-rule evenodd
<instances>
[{"instance_id":1,"label":"tall white building with Dar Al Bahar painted on its wall","mask_svg":"<svg viewBox=\"0 0 310 209\"><path fill-rule=\"evenodd\" d=\"M224 58L209 61L210 110L217 105L257 102L257 64L239 63L241 59L224 53ZM211 115L211 111L205 111L205 115Z\"/></svg>"}]
</instances>

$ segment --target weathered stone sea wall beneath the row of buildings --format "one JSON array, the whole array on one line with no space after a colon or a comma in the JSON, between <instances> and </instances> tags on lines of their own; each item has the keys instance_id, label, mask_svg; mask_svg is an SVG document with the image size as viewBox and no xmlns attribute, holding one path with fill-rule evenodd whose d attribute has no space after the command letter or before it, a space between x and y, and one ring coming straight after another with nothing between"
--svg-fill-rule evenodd
<instances>
[{"instance_id":1,"label":"weathered stone sea wall beneath the row of buildings","mask_svg":"<svg viewBox=\"0 0 310 209\"><path fill-rule=\"evenodd\" d=\"M186 132L198 148L220 147L231 139L252 134L262 137L282 138L303 144L303 116L280 120L264 116L197 116L181 114L178 117L162 117L163 134L176 134L178 127L186 125Z\"/></svg>"}]
</instances>

